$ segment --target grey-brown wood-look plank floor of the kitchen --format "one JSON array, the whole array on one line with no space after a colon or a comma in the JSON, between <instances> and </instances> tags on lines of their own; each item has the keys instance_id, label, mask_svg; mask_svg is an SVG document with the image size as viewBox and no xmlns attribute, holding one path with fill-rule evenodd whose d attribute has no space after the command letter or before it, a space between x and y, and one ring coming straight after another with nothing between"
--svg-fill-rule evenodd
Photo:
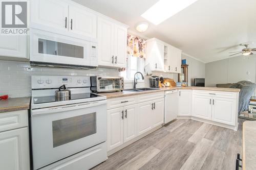
<instances>
[{"instance_id":1,"label":"grey-brown wood-look plank floor of the kitchen","mask_svg":"<svg viewBox=\"0 0 256 170\"><path fill-rule=\"evenodd\" d=\"M178 119L109 156L96 169L235 169L242 153L238 131Z\"/></svg>"}]
</instances>

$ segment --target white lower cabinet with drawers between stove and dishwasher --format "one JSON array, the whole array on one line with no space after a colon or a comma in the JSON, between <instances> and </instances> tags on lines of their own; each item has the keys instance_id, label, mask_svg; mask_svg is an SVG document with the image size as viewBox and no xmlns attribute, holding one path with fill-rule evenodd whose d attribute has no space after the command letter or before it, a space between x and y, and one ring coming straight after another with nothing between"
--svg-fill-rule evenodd
<instances>
[{"instance_id":1,"label":"white lower cabinet with drawers between stove and dishwasher","mask_svg":"<svg viewBox=\"0 0 256 170\"><path fill-rule=\"evenodd\" d=\"M159 93L155 93L156 95ZM145 94L133 96L134 100L143 99ZM148 94L148 96L151 96ZM161 99L145 101L108 110L107 146L111 151L120 145L145 134L164 122L164 93ZM131 97L110 99L109 108L115 101L129 101ZM148 98L150 100L151 98ZM141 100L143 101L143 100ZM128 102L127 102L128 103ZM132 103L132 102L131 102Z\"/></svg>"}]
</instances>

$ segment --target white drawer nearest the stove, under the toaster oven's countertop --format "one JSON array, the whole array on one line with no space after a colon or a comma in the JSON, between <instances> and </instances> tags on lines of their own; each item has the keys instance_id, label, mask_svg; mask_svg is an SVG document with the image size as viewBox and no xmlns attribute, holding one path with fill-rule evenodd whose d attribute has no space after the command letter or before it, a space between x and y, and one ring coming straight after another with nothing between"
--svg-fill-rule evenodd
<instances>
[{"instance_id":1,"label":"white drawer nearest the stove, under the toaster oven's countertop","mask_svg":"<svg viewBox=\"0 0 256 170\"><path fill-rule=\"evenodd\" d=\"M108 102L107 109L109 110L113 108L136 104L137 96L133 95L133 96L122 97L122 98L108 99L106 101Z\"/></svg>"}]
</instances>

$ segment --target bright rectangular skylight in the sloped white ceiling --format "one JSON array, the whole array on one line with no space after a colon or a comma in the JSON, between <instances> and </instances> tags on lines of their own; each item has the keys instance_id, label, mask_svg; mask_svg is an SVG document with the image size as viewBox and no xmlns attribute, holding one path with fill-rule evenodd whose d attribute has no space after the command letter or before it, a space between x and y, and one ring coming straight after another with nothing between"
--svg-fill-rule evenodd
<instances>
[{"instance_id":1,"label":"bright rectangular skylight in the sloped white ceiling","mask_svg":"<svg viewBox=\"0 0 256 170\"><path fill-rule=\"evenodd\" d=\"M177 14L197 0L160 0L141 16L146 20L159 25L159 23Z\"/></svg>"}]
</instances>

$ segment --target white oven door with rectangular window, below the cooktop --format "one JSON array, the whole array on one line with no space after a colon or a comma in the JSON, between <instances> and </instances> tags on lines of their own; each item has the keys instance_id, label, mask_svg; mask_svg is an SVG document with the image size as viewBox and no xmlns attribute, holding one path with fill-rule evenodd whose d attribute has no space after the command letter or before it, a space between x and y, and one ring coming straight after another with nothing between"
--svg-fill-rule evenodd
<instances>
[{"instance_id":1,"label":"white oven door with rectangular window, below the cooktop","mask_svg":"<svg viewBox=\"0 0 256 170\"><path fill-rule=\"evenodd\" d=\"M106 101L31 111L33 167L51 164L106 141Z\"/></svg>"}]
</instances>

